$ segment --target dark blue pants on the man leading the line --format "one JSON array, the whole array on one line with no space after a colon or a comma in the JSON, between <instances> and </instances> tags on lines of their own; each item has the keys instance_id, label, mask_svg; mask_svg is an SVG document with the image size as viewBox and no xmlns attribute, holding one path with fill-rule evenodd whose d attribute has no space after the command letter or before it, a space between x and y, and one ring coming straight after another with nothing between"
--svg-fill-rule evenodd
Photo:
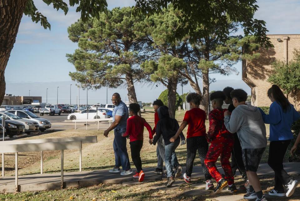
<instances>
[{"instance_id":1,"label":"dark blue pants on the man leading the line","mask_svg":"<svg viewBox=\"0 0 300 201\"><path fill-rule=\"evenodd\" d=\"M126 138L121 136L125 131L126 128L114 130L113 151L115 153L115 167L122 166L123 170L129 170L130 163L126 147Z\"/></svg>"}]
</instances>

